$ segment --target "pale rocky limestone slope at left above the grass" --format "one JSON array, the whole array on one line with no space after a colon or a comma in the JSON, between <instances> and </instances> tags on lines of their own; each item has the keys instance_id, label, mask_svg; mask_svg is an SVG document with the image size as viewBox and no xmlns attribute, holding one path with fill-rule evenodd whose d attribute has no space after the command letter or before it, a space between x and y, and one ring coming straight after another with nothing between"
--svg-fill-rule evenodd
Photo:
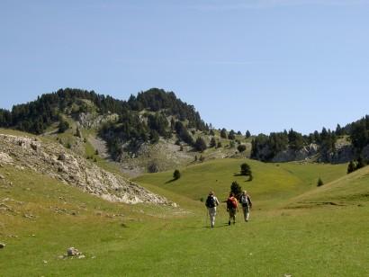
<instances>
[{"instance_id":1,"label":"pale rocky limestone slope at left above the grass","mask_svg":"<svg viewBox=\"0 0 369 277\"><path fill-rule=\"evenodd\" d=\"M118 174L107 172L59 144L0 134L0 165L30 168L107 201L173 204Z\"/></svg>"}]
</instances>

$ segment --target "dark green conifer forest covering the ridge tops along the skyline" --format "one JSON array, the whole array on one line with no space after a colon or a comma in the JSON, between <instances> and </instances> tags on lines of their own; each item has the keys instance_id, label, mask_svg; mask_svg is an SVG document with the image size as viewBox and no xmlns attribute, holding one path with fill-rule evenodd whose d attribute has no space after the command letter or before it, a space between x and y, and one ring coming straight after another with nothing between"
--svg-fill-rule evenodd
<instances>
[{"instance_id":1,"label":"dark green conifer forest covering the ridge tops along the skyline","mask_svg":"<svg viewBox=\"0 0 369 277\"><path fill-rule=\"evenodd\" d=\"M33 102L14 105L11 111L0 109L0 127L41 134L51 124L59 122L59 130L65 130L68 126L61 114L77 117L82 112L89 112L85 100L94 103L98 114L118 114L118 121L107 122L99 130L112 156L119 156L122 143L129 142L132 147L142 142L157 143L160 137L171 138L173 132L179 140L199 151L207 147L203 139L195 141L189 131L210 130L199 112L195 111L193 105L178 99L175 93L157 88L140 92L137 96L130 95L128 101L96 94L94 91L59 89L54 93L42 94ZM142 120L142 117L146 120ZM210 134L214 134L213 130L210 130ZM222 139L234 140L235 135L233 130L220 130ZM248 130L246 137L250 137ZM309 135L292 129L269 135L258 134L252 138L251 158L267 162L282 151L300 151L303 147L315 144L319 146L320 160L329 161L339 138L347 138L354 148L355 156L359 158L362 150L369 145L369 116L345 127L338 124L336 130L323 128Z\"/></svg>"}]
</instances>

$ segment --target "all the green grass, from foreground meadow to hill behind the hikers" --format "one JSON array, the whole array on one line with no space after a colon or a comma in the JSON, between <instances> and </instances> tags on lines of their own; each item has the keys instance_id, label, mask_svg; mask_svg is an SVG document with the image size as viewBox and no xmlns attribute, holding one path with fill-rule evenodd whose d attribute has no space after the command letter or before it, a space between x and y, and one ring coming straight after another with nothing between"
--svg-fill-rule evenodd
<instances>
[{"instance_id":1,"label":"all the green grass, from foreground meadow to hill behind the hikers","mask_svg":"<svg viewBox=\"0 0 369 277\"><path fill-rule=\"evenodd\" d=\"M252 182L238 175L245 161ZM172 208L111 203L0 167L0 276L368 276L369 167L346 169L221 159L179 168L176 181L173 172L134 180ZM238 214L228 226L221 203L209 228L200 199L214 190L225 200L232 181L252 196L250 221ZM85 258L59 258L70 246Z\"/></svg>"}]
</instances>

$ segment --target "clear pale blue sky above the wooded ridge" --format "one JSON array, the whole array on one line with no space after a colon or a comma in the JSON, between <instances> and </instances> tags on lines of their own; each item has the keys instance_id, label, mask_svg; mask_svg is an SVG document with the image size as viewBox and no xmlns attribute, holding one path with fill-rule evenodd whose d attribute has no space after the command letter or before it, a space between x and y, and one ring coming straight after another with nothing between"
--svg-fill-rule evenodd
<instances>
[{"instance_id":1,"label":"clear pale blue sky above the wooded ridge","mask_svg":"<svg viewBox=\"0 0 369 277\"><path fill-rule=\"evenodd\" d=\"M0 0L0 107L61 87L160 87L254 134L335 129L369 113L369 1Z\"/></svg>"}]
</instances>

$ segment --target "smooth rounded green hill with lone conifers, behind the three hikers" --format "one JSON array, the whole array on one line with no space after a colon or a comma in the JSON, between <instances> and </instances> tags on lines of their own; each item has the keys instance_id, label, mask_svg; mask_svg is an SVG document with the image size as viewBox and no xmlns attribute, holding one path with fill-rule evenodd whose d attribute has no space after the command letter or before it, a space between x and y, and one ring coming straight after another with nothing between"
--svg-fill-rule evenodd
<instances>
[{"instance_id":1,"label":"smooth rounded green hill with lone conifers, behind the three hikers","mask_svg":"<svg viewBox=\"0 0 369 277\"><path fill-rule=\"evenodd\" d=\"M239 175L240 165L247 162L254 175L252 182ZM173 181L173 172L146 174L135 179L152 183L171 192L199 201L210 190L226 199L230 184L237 181L251 193L258 207L275 206L289 197L316 187L320 178L328 183L346 174L346 165L266 164L249 159L218 159L180 169L182 177Z\"/></svg>"}]
</instances>

